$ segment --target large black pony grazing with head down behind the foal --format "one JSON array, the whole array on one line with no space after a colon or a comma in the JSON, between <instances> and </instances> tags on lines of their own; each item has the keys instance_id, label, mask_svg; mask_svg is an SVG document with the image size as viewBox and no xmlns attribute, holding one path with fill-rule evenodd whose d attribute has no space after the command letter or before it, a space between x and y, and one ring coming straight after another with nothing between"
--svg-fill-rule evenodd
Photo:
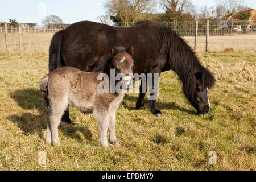
<instances>
[{"instance_id":1,"label":"large black pony grazing with head down behind the foal","mask_svg":"<svg viewBox=\"0 0 256 182\"><path fill-rule=\"evenodd\" d=\"M208 89L212 88L215 82L212 73L200 64L195 52L185 40L156 22L137 22L129 28L95 22L71 24L65 30L56 32L52 38L49 72L63 66L92 71L110 56L110 48L115 45L134 47L133 73L160 74L170 69L175 71L183 82L185 96L197 113L210 112ZM154 77L152 80L154 81ZM152 85L154 86L154 83ZM144 93L139 94L137 109L144 108L144 97ZM149 100L149 106L153 114L162 114L156 106L156 100ZM68 110L62 120L71 122Z\"/></svg>"}]
</instances>

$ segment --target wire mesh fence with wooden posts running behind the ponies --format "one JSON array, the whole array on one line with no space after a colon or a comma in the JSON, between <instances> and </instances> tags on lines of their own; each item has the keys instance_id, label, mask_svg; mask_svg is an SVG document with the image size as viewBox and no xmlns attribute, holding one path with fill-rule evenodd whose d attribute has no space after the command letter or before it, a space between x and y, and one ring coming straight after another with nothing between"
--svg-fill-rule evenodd
<instances>
[{"instance_id":1,"label":"wire mesh fence with wooden posts running behind the ponies","mask_svg":"<svg viewBox=\"0 0 256 182\"><path fill-rule=\"evenodd\" d=\"M171 28L180 36L185 37L188 44L200 51L205 49L207 35L207 21L197 22L197 36L195 42L196 22L160 22L166 27ZM117 22L116 27L130 27L134 22ZM48 53L49 44L53 34L63 30L68 25L59 27L33 27L32 23L7 23L6 27L0 23L0 52L11 53L31 53L43 52ZM209 21L209 51L221 51L225 48L234 50L255 50L256 49L256 22L253 21ZM221 36L232 35L232 36ZM246 36L245 36L246 35ZM19 41L20 40L20 41ZM195 46L197 45L197 46ZM8 50L9 49L9 50Z\"/></svg>"}]
</instances>

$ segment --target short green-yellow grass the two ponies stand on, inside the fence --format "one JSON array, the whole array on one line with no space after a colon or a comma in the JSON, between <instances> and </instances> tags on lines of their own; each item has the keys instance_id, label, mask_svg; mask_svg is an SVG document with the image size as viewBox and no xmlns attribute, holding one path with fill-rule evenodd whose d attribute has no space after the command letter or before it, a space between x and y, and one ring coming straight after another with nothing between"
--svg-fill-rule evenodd
<instances>
[{"instance_id":1,"label":"short green-yellow grass the two ponies stand on, inside the fence","mask_svg":"<svg viewBox=\"0 0 256 182\"><path fill-rule=\"evenodd\" d=\"M216 77L209 91L212 112L197 115L174 72L160 77L158 106L135 110L138 94L126 95L117 111L121 147L98 147L93 114L71 108L74 126L61 123L61 146L47 146L48 109L41 103L44 54L0 55L0 169L2 170L255 170L256 52L197 52ZM38 152L45 151L45 166ZM209 151L217 164L210 165Z\"/></svg>"}]
</instances>

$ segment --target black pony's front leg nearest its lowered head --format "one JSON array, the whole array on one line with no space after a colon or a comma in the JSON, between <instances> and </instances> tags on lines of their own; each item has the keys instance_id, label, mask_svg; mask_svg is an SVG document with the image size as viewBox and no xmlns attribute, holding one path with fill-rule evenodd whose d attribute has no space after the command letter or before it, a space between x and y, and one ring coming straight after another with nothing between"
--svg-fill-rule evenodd
<instances>
[{"instance_id":1,"label":"black pony's front leg nearest its lowered head","mask_svg":"<svg viewBox=\"0 0 256 182\"><path fill-rule=\"evenodd\" d=\"M150 111L157 117L162 115L161 111L158 109L158 106L156 106L156 98L158 95L158 81L159 81L160 73L161 73L160 69L155 68L151 72L152 74L151 79L147 78L149 92L150 92L150 98L148 98Z\"/></svg>"}]
</instances>

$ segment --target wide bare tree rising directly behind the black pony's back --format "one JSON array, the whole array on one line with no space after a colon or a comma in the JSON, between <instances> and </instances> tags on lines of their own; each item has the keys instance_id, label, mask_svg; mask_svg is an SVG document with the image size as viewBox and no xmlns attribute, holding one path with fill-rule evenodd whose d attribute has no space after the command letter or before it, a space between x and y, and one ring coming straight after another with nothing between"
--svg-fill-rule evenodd
<instances>
[{"instance_id":1,"label":"wide bare tree rising directly behind the black pony's back","mask_svg":"<svg viewBox=\"0 0 256 182\"><path fill-rule=\"evenodd\" d=\"M145 13L152 13L155 4L155 0L106 0L104 8L112 19L136 22L143 19Z\"/></svg>"}]
</instances>

